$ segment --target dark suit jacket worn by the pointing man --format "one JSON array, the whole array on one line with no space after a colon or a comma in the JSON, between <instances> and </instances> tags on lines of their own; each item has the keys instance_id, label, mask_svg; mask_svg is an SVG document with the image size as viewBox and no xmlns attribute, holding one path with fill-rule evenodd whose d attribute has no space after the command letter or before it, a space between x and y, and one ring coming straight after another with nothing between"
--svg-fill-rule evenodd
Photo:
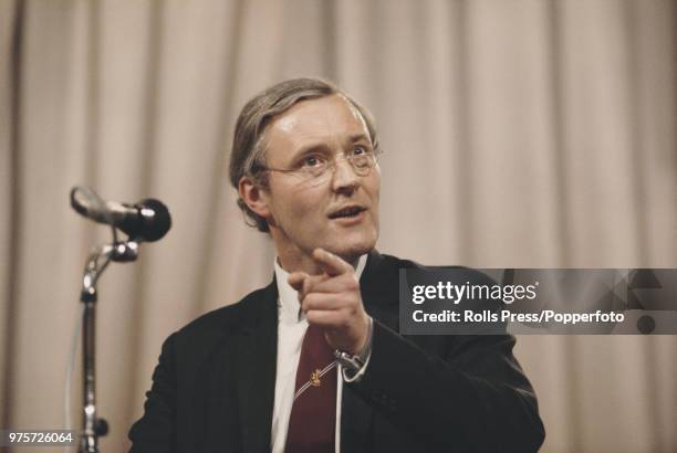
<instances>
[{"instance_id":1,"label":"dark suit jacket worn by the pointing man","mask_svg":"<svg viewBox=\"0 0 677 453\"><path fill-rule=\"evenodd\" d=\"M343 452L533 452L544 438L514 338L412 336L398 330L398 270L372 252L361 278L374 318L372 356L345 383ZM464 282L489 283L467 270ZM132 452L270 451L278 291L273 282L167 338L129 431Z\"/></svg>"}]
</instances>

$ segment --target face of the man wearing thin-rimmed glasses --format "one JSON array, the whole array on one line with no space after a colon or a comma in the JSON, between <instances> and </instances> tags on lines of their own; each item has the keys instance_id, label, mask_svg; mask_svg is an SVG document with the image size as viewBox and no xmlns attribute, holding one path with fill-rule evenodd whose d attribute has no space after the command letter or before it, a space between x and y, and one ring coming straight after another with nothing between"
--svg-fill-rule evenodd
<instances>
[{"instance_id":1,"label":"face of the man wearing thin-rimmed glasses","mask_svg":"<svg viewBox=\"0 0 677 453\"><path fill-rule=\"evenodd\" d=\"M358 176L345 159L372 149L360 113L338 95L303 101L269 125L267 139L269 168L294 169L314 164L315 157L337 159L335 168L320 178L269 172L261 198L282 264L298 267L315 247L346 261L373 249L378 238L381 170L375 166Z\"/></svg>"}]
</instances>

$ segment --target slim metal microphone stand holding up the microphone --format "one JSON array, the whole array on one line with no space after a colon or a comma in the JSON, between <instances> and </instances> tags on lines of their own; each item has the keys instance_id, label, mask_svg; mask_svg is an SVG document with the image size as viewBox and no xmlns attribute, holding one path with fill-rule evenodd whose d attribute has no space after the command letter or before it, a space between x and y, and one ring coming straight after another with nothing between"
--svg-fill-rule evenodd
<instances>
[{"instance_id":1,"label":"slim metal microphone stand holding up the microphone","mask_svg":"<svg viewBox=\"0 0 677 453\"><path fill-rule=\"evenodd\" d=\"M80 453L98 453L98 436L106 435L108 423L96 417L95 379L95 320L97 292L96 283L111 261L131 262L138 256L138 242L117 242L113 229L113 243L96 247L87 257L82 278L80 302L84 304L82 317L82 365L83 365L83 432Z\"/></svg>"}]
</instances>

